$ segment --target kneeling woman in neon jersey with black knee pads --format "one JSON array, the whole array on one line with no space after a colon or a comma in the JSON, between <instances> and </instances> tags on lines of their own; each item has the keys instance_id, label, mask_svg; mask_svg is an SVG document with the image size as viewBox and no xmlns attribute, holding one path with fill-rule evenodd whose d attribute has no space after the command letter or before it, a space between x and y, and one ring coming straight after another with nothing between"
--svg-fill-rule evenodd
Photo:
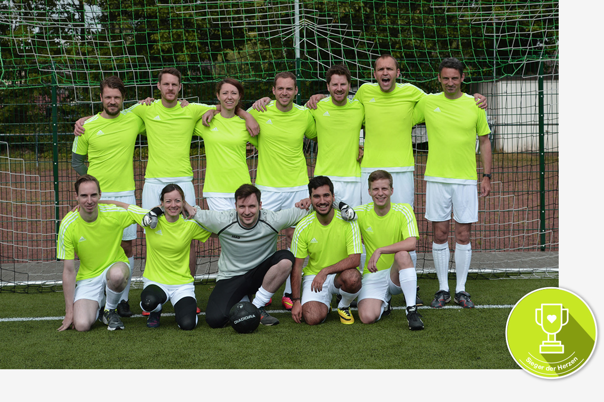
<instances>
[{"instance_id":1,"label":"kneeling woman in neon jersey with black knee pads","mask_svg":"<svg viewBox=\"0 0 604 402\"><path fill-rule=\"evenodd\" d=\"M157 328L162 305L172 302L179 328L190 330L197 325L197 301L193 276L189 270L189 248L193 239L205 242L211 233L198 222L181 216L185 203L184 191L178 184L168 184L159 195L161 212L150 213L137 206L107 201L128 210L130 216L145 227L147 262L143 273L144 288L141 308L149 314L147 326ZM155 209L153 209L155 211ZM161 215L151 224L148 216Z\"/></svg>"}]
</instances>

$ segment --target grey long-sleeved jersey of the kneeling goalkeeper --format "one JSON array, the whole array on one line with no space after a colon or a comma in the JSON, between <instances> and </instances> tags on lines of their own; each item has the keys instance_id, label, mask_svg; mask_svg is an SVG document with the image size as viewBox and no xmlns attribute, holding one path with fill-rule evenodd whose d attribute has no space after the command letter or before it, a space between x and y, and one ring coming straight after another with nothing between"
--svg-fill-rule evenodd
<instances>
[{"instance_id":1,"label":"grey long-sleeved jersey of the kneeling goalkeeper","mask_svg":"<svg viewBox=\"0 0 604 402\"><path fill-rule=\"evenodd\" d=\"M312 212L290 208L278 212L260 210L258 221L253 227L239 223L236 210L210 211L196 206L193 219L220 239L220 258L216 280L245 274L260 265L277 251L277 237L281 229L295 225Z\"/></svg>"}]
</instances>

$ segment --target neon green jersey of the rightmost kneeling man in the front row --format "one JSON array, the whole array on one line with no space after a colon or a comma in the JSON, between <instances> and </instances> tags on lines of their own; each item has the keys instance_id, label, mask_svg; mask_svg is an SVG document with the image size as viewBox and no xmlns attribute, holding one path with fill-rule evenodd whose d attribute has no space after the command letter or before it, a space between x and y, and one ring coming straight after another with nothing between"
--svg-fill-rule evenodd
<instances>
[{"instance_id":1,"label":"neon green jersey of the rightmost kneeling man in the front row","mask_svg":"<svg viewBox=\"0 0 604 402\"><path fill-rule=\"evenodd\" d=\"M364 274L369 272L367 262L377 248L419 237L416 217L409 204L390 204L390 210L384 216L377 215L373 203L355 207L355 212L368 256L363 267ZM393 263L394 254L382 254L377 260L377 270L387 270Z\"/></svg>"}]
</instances>

